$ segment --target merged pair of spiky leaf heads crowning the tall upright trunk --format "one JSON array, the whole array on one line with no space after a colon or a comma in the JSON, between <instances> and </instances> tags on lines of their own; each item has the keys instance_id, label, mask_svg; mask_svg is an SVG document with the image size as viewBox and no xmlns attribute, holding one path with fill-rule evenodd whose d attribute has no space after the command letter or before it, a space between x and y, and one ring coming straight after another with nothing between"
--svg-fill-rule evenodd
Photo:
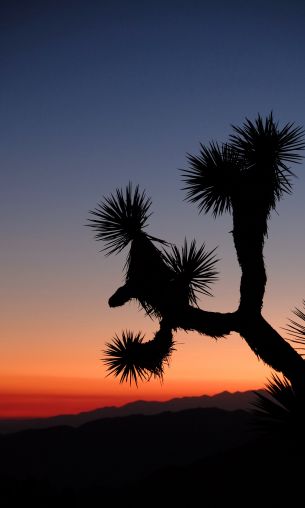
<instances>
[{"instance_id":1,"label":"merged pair of spiky leaf heads crowning the tall upright trunk","mask_svg":"<svg viewBox=\"0 0 305 508\"><path fill-rule=\"evenodd\" d=\"M243 203L267 219L283 194L291 192L293 173L287 163L302 159L305 131L293 123L279 128L272 113L265 120L246 118L233 130L229 143L200 145L198 156L187 155L186 199L214 217Z\"/></svg>"}]
</instances>

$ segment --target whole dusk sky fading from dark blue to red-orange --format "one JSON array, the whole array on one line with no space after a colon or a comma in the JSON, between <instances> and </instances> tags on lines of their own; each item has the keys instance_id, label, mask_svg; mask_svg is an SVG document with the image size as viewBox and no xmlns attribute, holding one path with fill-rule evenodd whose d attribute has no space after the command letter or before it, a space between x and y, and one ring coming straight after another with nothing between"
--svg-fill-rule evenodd
<instances>
[{"instance_id":1,"label":"whole dusk sky fading from dark blue to red-orange","mask_svg":"<svg viewBox=\"0 0 305 508\"><path fill-rule=\"evenodd\" d=\"M105 258L84 224L129 180L153 200L149 232L218 246L207 310L238 304L231 217L198 215L178 168L199 143L271 110L305 125L305 5L274 1L14 1L0 4L0 416L243 390L270 369L231 334L178 333L164 382L106 378L105 341L158 328L110 309L124 253ZM280 332L305 297L304 164L265 248L264 316Z\"/></svg>"}]
</instances>

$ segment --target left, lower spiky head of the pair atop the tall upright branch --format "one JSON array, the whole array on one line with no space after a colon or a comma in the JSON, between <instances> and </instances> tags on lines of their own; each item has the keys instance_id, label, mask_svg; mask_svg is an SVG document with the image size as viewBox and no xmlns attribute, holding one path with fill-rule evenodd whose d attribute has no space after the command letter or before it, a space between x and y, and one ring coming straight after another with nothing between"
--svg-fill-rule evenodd
<instances>
[{"instance_id":1,"label":"left, lower spiky head of the pair atop the tall upright branch","mask_svg":"<svg viewBox=\"0 0 305 508\"><path fill-rule=\"evenodd\" d=\"M241 171L238 153L228 144L200 145L200 154L187 155L189 169L183 171L186 199L198 203L199 211L212 211L214 217L230 212L231 197Z\"/></svg>"}]
</instances>

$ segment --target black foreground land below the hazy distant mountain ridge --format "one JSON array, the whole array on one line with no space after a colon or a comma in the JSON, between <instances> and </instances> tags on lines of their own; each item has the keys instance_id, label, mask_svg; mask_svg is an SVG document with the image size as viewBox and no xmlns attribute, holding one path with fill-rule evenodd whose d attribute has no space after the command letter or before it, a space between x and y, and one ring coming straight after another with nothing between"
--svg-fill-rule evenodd
<instances>
[{"instance_id":1,"label":"black foreground land below the hazy distant mountain ridge","mask_svg":"<svg viewBox=\"0 0 305 508\"><path fill-rule=\"evenodd\" d=\"M0 457L1 508L303 506L303 448L287 436L262 434L255 416L241 409L108 416L2 434Z\"/></svg>"}]
</instances>

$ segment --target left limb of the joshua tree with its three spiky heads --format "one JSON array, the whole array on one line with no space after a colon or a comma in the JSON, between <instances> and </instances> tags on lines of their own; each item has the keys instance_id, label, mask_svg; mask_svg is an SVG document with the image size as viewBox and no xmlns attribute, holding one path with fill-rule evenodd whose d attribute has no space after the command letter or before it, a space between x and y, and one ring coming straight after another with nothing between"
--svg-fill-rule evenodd
<instances>
[{"instance_id":1,"label":"left limb of the joshua tree with its three spiky heads","mask_svg":"<svg viewBox=\"0 0 305 508\"><path fill-rule=\"evenodd\" d=\"M115 195L106 198L97 209L89 225L96 232L95 238L106 242L108 254L117 253L130 244L125 263L125 285L109 299L111 307L124 304L130 298L138 301L151 317L169 317L171 312L197 303L197 294L211 296L209 288L217 278L214 250L208 252L203 244L199 248L193 240L188 246L185 240L181 251L164 240L145 231L151 200L145 192L135 191L129 184L125 190L117 189ZM154 242L163 245L158 249ZM162 378L174 349L172 330L163 324L154 340L143 342L144 336L123 332L107 343L105 363L109 373L120 381L147 380L152 375Z\"/></svg>"}]
</instances>

